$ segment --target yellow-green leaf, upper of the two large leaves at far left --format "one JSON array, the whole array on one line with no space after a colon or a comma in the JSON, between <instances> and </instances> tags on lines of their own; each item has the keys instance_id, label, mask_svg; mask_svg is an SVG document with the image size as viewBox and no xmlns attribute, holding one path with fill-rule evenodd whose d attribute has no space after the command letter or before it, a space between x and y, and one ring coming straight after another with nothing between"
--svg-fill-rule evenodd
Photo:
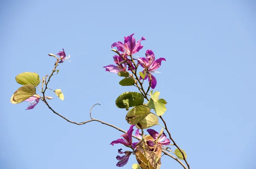
<instances>
[{"instance_id":1,"label":"yellow-green leaf, upper of the two large leaves at far left","mask_svg":"<svg viewBox=\"0 0 256 169\"><path fill-rule=\"evenodd\" d=\"M37 73L32 72L20 73L15 77L15 80L20 85L31 84L34 86L38 86L40 84L39 75Z\"/></svg>"}]
</instances>

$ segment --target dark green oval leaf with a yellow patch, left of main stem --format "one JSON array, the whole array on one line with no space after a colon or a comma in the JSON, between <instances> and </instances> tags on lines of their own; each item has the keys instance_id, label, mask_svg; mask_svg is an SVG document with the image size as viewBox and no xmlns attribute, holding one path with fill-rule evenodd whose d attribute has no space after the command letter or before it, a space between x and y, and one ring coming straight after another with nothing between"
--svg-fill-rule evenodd
<instances>
[{"instance_id":1,"label":"dark green oval leaf with a yellow patch, left of main stem","mask_svg":"<svg viewBox=\"0 0 256 169\"><path fill-rule=\"evenodd\" d=\"M125 92L122 93L116 99L116 106L118 108L125 108L129 110L129 107L134 107L143 104L144 97L138 92Z\"/></svg>"}]
</instances>

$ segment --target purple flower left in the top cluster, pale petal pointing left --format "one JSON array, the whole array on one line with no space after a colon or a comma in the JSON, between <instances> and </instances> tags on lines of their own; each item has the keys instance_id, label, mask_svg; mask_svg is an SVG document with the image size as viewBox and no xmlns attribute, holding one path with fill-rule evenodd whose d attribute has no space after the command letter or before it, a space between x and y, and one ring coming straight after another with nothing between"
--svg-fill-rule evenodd
<instances>
[{"instance_id":1,"label":"purple flower left in the top cluster, pale petal pointing left","mask_svg":"<svg viewBox=\"0 0 256 169\"><path fill-rule=\"evenodd\" d=\"M123 61L121 56L113 56L115 65L108 65L104 66L103 68L106 68L106 71L112 72L112 73L118 73L126 70L126 63L120 64L120 62Z\"/></svg>"}]
</instances>

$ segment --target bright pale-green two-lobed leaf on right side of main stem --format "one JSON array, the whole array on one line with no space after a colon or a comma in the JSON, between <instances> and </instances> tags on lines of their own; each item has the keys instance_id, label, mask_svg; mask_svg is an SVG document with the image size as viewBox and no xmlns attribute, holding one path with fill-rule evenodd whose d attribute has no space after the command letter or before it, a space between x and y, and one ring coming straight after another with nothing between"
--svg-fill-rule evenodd
<instances>
[{"instance_id":1,"label":"bright pale-green two-lobed leaf on right side of main stem","mask_svg":"<svg viewBox=\"0 0 256 169\"><path fill-rule=\"evenodd\" d=\"M167 102L165 99L159 99L157 102L155 102L152 98L148 101L148 107L150 109L154 109L154 111L157 113L157 115L163 115L165 113Z\"/></svg>"}]
</instances>

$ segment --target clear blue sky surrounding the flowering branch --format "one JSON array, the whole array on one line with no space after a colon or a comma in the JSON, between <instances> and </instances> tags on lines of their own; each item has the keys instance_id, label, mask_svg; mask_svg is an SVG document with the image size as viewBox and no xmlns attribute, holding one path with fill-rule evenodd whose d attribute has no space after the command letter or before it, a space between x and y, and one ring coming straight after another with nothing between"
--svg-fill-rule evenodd
<instances>
[{"instance_id":1,"label":"clear blue sky surrounding the flowering branch","mask_svg":"<svg viewBox=\"0 0 256 169\"><path fill-rule=\"evenodd\" d=\"M40 101L13 105L19 73L49 75L62 48L72 62L59 66L49 83L49 104L70 120L93 117L128 130L117 96L134 87L105 72L113 64L111 44L134 33L145 37L137 56L151 49L164 57L155 73L165 99L172 137L193 169L255 169L256 3L253 0L9 0L0 3L1 113L0 169L116 167L110 143L121 132L98 122L77 126ZM159 126L153 127L160 130ZM174 150L174 149L173 149ZM131 169L134 156L123 169ZM182 169L162 158L161 169Z\"/></svg>"}]
</instances>

